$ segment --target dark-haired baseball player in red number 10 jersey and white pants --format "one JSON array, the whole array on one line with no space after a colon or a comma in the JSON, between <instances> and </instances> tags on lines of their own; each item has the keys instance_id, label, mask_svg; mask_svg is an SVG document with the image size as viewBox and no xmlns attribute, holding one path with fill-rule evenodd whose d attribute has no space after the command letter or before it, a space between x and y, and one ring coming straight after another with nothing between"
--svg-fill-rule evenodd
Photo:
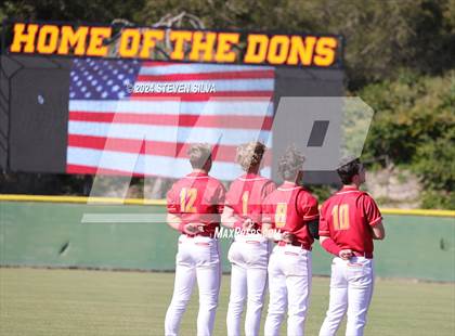
<instances>
[{"instance_id":1,"label":"dark-haired baseball player in red number 10 jersey and white pants","mask_svg":"<svg viewBox=\"0 0 455 336\"><path fill-rule=\"evenodd\" d=\"M363 335L373 294L373 240L384 240L382 217L375 201L359 186L365 170L359 159L337 170L343 188L321 208L321 245L335 255L330 302L320 336L335 335L348 311L346 335Z\"/></svg>"}]
</instances>

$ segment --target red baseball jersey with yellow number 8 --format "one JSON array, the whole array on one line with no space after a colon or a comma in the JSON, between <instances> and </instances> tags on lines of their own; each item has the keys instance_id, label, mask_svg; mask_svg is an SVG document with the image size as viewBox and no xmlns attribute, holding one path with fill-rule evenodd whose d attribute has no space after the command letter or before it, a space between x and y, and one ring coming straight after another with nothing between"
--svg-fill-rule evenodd
<instances>
[{"instance_id":1,"label":"red baseball jersey with yellow number 8","mask_svg":"<svg viewBox=\"0 0 455 336\"><path fill-rule=\"evenodd\" d=\"M263 221L271 222L280 232L289 232L298 244L311 249L314 238L308 222L317 219L317 199L304 188L285 182L271 193L264 202Z\"/></svg>"}]
</instances>

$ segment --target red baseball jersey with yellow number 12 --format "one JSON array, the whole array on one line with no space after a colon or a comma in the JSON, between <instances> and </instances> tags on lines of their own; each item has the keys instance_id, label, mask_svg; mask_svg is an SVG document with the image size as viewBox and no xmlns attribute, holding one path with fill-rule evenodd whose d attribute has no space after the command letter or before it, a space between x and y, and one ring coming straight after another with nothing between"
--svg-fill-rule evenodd
<instances>
[{"instance_id":1,"label":"red baseball jersey with yellow number 12","mask_svg":"<svg viewBox=\"0 0 455 336\"><path fill-rule=\"evenodd\" d=\"M192 172L168 192L168 211L180 215L184 223L202 223L212 232L220 224L224 198L225 189L220 181L207 173Z\"/></svg>"}]
</instances>

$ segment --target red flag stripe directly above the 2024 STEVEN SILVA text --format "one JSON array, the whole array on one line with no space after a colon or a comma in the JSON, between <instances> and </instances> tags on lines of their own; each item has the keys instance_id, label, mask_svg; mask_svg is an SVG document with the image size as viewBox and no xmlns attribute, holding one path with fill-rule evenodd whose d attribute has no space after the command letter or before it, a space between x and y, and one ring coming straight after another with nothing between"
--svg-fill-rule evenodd
<instances>
[{"instance_id":1,"label":"red flag stripe directly above the 2024 STEVEN SILVA text","mask_svg":"<svg viewBox=\"0 0 455 336\"><path fill-rule=\"evenodd\" d=\"M205 80L205 79L259 79L275 78L274 70L249 70L249 72L217 72L193 73L171 75L139 75L136 81L180 81L180 80Z\"/></svg>"}]
</instances>

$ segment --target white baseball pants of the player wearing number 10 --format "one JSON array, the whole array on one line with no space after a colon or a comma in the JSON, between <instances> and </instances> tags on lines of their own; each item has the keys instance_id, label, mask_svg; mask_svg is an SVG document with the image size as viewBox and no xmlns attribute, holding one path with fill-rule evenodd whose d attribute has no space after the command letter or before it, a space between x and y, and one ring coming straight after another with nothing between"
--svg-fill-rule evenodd
<instances>
[{"instance_id":1,"label":"white baseball pants of the player wearing number 10","mask_svg":"<svg viewBox=\"0 0 455 336\"><path fill-rule=\"evenodd\" d=\"M362 336L374 287L373 259L334 258L330 277L330 302L320 336L336 335L348 312L347 336Z\"/></svg>"}]
</instances>

